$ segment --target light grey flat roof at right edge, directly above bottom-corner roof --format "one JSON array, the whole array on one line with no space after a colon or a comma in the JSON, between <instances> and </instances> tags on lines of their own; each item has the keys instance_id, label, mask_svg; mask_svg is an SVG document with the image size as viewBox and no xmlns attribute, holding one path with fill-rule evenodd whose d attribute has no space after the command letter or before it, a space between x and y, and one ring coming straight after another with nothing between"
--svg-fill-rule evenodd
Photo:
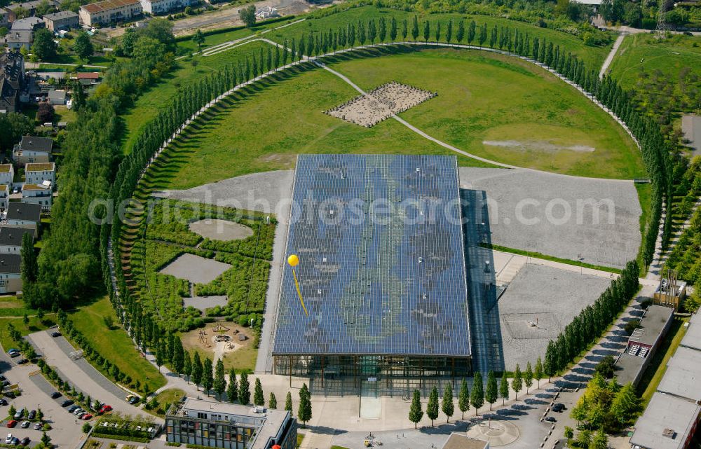
<instances>
[{"instance_id":1,"label":"light grey flat roof at right edge, directly above bottom-corner roof","mask_svg":"<svg viewBox=\"0 0 701 449\"><path fill-rule=\"evenodd\" d=\"M701 401L701 351L678 347L667 362L658 392Z\"/></svg>"}]
</instances>

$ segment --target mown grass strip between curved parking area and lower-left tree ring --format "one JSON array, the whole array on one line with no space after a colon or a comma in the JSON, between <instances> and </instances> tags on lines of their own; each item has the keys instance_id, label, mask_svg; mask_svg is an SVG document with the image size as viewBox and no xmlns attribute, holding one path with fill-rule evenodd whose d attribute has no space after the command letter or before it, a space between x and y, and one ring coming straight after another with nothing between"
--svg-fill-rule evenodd
<instances>
[{"instance_id":1,"label":"mown grass strip between curved parking area and lower-left tree ring","mask_svg":"<svg viewBox=\"0 0 701 449\"><path fill-rule=\"evenodd\" d=\"M111 317L114 323L107 329L104 317ZM165 385L165 378L158 370L141 357L131 338L119 325L108 298L102 298L86 305L70 315L76 329L81 331L95 350L102 357L116 364L120 371L130 376L132 381L139 380L153 391Z\"/></svg>"}]
</instances>

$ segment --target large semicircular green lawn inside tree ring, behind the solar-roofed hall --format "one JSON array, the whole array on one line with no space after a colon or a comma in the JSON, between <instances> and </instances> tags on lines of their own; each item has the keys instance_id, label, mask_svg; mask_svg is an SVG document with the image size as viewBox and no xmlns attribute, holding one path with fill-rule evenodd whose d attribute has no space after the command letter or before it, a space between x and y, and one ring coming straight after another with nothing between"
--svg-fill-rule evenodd
<instances>
[{"instance_id":1,"label":"large semicircular green lawn inside tree ring, behind the solar-roofed hall","mask_svg":"<svg viewBox=\"0 0 701 449\"><path fill-rule=\"evenodd\" d=\"M339 60L334 69L369 89L400 81L438 92L401 114L464 151L512 165L587 177L643 173L637 148L606 113L525 62L473 50L422 50ZM322 69L294 71L235 95L168 153L159 188L190 188L251 172L289 169L299 153L449 154L395 120L360 127L322 113L358 95ZM292 113L294 111L294 113ZM597 130L597 132L591 132ZM485 146L484 140L590 146L593 152ZM485 166L459 157L463 166Z\"/></svg>"}]
</instances>

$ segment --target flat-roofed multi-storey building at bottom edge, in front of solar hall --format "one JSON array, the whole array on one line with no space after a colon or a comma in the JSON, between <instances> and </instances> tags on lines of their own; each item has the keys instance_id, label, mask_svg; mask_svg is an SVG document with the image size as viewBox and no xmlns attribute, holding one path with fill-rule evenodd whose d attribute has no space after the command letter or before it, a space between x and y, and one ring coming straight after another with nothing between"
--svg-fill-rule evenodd
<instances>
[{"instance_id":1,"label":"flat-roofed multi-storey building at bottom edge, in front of solar hall","mask_svg":"<svg viewBox=\"0 0 701 449\"><path fill-rule=\"evenodd\" d=\"M224 449L294 449L297 420L285 410L186 398L165 414L171 443Z\"/></svg>"}]
</instances>

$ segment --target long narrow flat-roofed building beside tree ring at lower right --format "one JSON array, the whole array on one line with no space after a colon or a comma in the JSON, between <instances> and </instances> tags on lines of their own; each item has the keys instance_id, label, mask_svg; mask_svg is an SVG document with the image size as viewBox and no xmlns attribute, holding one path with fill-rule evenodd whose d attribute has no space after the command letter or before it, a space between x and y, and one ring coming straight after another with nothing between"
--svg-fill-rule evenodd
<instances>
[{"instance_id":1,"label":"long narrow flat-roofed building beside tree ring at lower right","mask_svg":"<svg viewBox=\"0 0 701 449\"><path fill-rule=\"evenodd\" d=\"M615 362L616 381L620 385L638 385L645 368L672 325L672 308L650 305L640 319L640 326L628 338L625 350Z\"/></svg>"}]
</instances>

